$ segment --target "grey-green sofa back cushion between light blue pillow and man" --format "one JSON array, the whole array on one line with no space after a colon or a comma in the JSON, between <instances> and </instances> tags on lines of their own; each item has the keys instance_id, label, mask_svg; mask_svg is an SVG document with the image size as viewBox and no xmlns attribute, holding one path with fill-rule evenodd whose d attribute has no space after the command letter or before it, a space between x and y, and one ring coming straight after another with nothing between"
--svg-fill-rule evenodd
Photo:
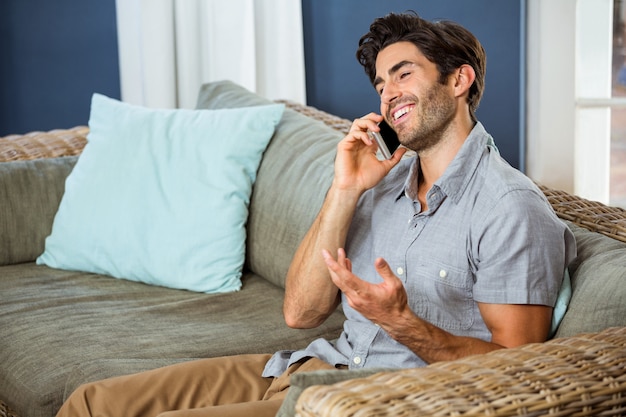
<instances>
[{"instance_id":1,"label":"grey-green sofa back cushion between light blue pillow and man","mask_svg":"<svg viewBox=\"0 0 626 417\"><path fill-rule=\"evenodd\" d=\"M198 108L267 103L228 81L204 85L198 97ZM342 137L323 122L287 108L263 155L250 202L247 263L276 285L284 287L291 258L322 205Z\"/></svg>"}]
</instances>

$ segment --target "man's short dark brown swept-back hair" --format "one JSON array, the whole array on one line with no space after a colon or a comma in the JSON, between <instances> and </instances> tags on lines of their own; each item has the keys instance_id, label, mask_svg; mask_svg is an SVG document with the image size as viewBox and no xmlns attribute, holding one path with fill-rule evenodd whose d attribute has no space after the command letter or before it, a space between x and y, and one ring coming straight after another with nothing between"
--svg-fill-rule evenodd
<instances>
[{"instance_id":1,"label":"man's short dark brown swept-back hair","mask_svg":"<svg viewBox=\"0 0 626 417\"><path fill-rule=\"evenodd\" d=\"M470 65L476 73L476 79L470 87L467 101L470 114L475 119L474 112L485 88L487 56L470 31L450 21L424 20L415 12L390 13L377 18L370 25L370 31L359 40L356 52L372 84L376 77L378 53L396 42L411 42L417 46L429 61L437 65L441 83L445 83L448 76L461 65Z\"/></svg>"}]
</instances>

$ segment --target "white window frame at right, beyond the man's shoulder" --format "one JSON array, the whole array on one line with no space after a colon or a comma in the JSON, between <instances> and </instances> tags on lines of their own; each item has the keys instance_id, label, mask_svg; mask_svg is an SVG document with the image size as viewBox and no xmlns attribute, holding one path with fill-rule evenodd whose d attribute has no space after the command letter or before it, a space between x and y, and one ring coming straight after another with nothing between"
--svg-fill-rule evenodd
<instances>
[{"instance_id":1,"label":"white window frame at right, beyond the man's shoulder","mask_svg":"<svg viewBox=\"0 0 626 417\"><path fill-rule=\"evenodd\" d=\"M528 0L526 172L609 203L613 0ZM558 22L558 24L555 24Z\"/></svg>"}]
</instances>

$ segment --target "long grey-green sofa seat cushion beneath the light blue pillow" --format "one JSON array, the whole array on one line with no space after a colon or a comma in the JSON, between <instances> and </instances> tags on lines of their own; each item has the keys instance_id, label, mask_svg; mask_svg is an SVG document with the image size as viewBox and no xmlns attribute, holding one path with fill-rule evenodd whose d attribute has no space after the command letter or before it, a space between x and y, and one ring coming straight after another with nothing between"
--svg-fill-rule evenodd
<instances>
[{"instance_id":1,"label":"long grey-green sofa seat cushion beneath the light blue pillow","mask_svg":"<svg viewBox=\"0 0 626 417\"><path fill-rule=\"evenodd\" d=\"M299 349L336 338L343 316L321 327L288 328L284 291L244 274L241 291L173 290L34 263L0 267L0 399L22 417L52 417L65 387L187 358Z\"/></svg>"}]
</instances>

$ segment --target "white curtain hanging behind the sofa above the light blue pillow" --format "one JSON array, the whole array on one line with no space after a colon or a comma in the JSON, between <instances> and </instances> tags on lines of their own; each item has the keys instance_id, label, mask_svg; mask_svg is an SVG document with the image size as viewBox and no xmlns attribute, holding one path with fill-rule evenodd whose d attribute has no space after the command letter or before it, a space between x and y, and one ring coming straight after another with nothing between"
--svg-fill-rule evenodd
<instances>
[{"instance_id":1,"label":"white curtain hanging behind the sofa above the light blue pillow","mask_svg":"<svg viewBox=\"0 0 626 417\"><path fill-rule=\"evenodd\" d=\"M122 100L193 108L200 86L232 80L306 102L295 0L116 0Z\"/></svg>"}]
</instances>

